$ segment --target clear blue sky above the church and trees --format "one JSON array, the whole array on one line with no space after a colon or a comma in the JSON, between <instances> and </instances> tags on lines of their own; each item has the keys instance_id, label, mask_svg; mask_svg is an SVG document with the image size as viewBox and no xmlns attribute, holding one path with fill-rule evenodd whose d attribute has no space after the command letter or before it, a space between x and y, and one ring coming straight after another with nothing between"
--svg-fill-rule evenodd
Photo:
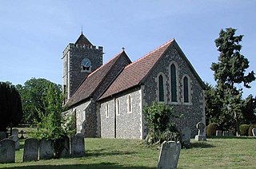
<instances>
[{"instance_id":1,"label":"clear blue sky above the church and trees","mask_svg":"<svg viewBox=\"0 0 256 169\"><path fill-rule=\"evenodd\" d=\"M214 40L221 29L243 34L241 53L256 72L254 0L10 0L0 8L0 81L32 77L62 84L62 52L83 34L103 46L104 62L125 48L131 61L175 38L202 81L215 85ZM256 96L256 82L244 97ZM241 85L242 87L242 85Z\"/></svg>"}]
</instances>

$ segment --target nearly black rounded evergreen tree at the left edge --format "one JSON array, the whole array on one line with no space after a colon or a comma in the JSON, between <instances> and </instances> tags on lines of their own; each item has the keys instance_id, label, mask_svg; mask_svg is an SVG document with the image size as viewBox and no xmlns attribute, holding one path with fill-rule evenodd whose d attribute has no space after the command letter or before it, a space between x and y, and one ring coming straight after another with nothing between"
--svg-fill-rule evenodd
<instances>
[{"instance_id":1,"label":"nearly black rounded evergreen tree at the left edge","mask_svg":"<svg viewBox=\"0 0 256 169\"><path fill-rule=\"evenodd\" d=\"M0 131L22 120L22 102L18 90L10 82L0 82Z\"/></svg>"}]
</instances>

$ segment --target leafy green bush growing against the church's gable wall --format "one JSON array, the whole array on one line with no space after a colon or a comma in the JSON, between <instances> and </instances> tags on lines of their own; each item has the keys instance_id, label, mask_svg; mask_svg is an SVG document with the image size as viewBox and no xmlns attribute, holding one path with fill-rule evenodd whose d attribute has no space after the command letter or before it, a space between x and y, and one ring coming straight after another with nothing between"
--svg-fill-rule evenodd
<instances>
[{"instance_id":1,"label":"leafy green bush growing against the church's gable wall","mask_svg":"<svg viewBox=\"0 0 256 169\"><path fill-rule=\"evenodd\" d=\"M174 140L170 136L177 136L178 130L171 118L178 118L174 115L173 108L170 105L154 101L150 106L143 108L143 114L148 128L147 143L162 143L165 140Z\"/></svg>"}]
</instances>

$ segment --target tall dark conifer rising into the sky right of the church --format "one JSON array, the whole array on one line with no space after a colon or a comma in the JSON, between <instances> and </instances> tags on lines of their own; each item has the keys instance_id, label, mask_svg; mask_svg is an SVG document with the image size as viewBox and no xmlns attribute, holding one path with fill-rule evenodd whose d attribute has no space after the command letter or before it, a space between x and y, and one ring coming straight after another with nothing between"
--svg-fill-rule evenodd
<instances>
[{"instance_id":1,"label":"tall dark conifer rising into the sky right of the church","mask_svg":"<svg viewBox=\"0 0 256 169\"><path fill-rule=\"evenodd\" d=\"M249 61L240 50L243 35L235 36L236 29L221 29L219 37L215 40L215 45L220 52L218 63L213 63L211 68L214 71L214 79L217 81L218 95L222 99L222 112L234 117L234 129L239 134L238 119L241 116L241 96L242 88L238 85L250 88L250 82L255 80L254 71L247 75ZM228 117L230 118L230 117ZM226 119L230 120L230 119ZM231 119L232 120L232 119Z\"/></svg>"}]
</instances>

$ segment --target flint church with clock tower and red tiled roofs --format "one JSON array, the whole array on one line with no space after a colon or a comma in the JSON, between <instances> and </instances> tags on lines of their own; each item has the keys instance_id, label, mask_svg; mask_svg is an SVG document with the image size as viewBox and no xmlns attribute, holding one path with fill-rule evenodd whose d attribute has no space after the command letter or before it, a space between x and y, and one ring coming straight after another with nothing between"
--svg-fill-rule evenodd
<instances>
[{"instance_id":1,"label":"flint church with clock tower and red tiled roofs","mask_svg":"<svg viewBox=\"0 0 256 169\"><path fill-rule=\"evenodd\" d=\"M142 110L154 100L170 104L182 114L178 130L205 119L204 90L178 43L171 39L137 61L122 50L103 64L103 47L96 47L82 33L63 51L63 114L75 117L78 133L85 137L145 139Z\"/></svg>"}]
</instances>

